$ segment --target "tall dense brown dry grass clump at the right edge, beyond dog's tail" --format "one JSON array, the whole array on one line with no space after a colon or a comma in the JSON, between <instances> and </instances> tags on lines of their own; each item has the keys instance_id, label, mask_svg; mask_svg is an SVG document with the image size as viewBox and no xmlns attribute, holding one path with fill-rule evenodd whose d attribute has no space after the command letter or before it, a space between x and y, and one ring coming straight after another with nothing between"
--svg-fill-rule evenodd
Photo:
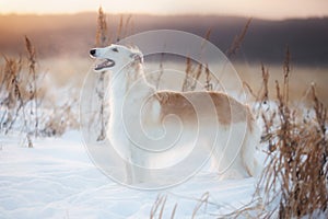
<instances>
[{"instance_id":1,"label":"tall dense brown dry grass clump at the right edge, beyond dog's tail","mask_svg":"<svg viewBox=\"0 0 328 219\"><path fill-rule=\"evenodd\" d=\"M291 55L283 64L282 83L276 81L276 108L262 111L262 142L268 145L268 165L257 195L262 196L265 217L313 218L328 216L327 108L312 87L313 108L291 105ZM268 101L269 73L262 67L263 87L257 100ZM254 93L254 92L251 92Z\"/></svg>"}]
</instances>

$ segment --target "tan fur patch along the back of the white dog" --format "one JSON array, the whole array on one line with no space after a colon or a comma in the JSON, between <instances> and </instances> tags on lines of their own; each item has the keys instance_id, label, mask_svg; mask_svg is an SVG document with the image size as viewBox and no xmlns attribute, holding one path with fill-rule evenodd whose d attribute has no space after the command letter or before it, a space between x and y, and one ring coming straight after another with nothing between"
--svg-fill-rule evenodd
<instances>
[{"instance_id":1,"label":"tan fur patch along the back of the white dog","mask_svg":"<svg viewBox=\"0 0 328 219\"><path fill-rule=\"evenodd\" d=\"M197 119L197 116L213 115L213 112L215 112L219 123L224 126L232 123L247 122L248 128L250 130L253 128L253 116L248 106L221 92L160 91L154 96L161 104L162 118L173 114L187 122ZM215 111L213 107L215 107Z\"/></svg>"}]
</instances>

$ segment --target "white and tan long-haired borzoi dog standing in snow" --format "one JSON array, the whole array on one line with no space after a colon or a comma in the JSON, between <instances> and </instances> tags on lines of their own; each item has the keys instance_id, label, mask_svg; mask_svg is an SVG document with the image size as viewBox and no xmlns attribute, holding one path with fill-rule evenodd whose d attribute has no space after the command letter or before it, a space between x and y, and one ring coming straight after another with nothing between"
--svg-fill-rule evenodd
<instances>
[{"instance_id":1,"label":"white and tan long-haired borzoi dog standing in snow","mask_svg":"<svg viewBox=\"0 0 328 219\"><path fill-rule=\"evenodd\" d=\"M90 55L101 61L95 71L110 70L108 138L128 163L127 183L145 181L147 170L183 162L199 146L211 149L219 173L258 173L259 130L246 105L221 92L155 91L138 49L110 45Z\"/></svg>"}]
</instances>

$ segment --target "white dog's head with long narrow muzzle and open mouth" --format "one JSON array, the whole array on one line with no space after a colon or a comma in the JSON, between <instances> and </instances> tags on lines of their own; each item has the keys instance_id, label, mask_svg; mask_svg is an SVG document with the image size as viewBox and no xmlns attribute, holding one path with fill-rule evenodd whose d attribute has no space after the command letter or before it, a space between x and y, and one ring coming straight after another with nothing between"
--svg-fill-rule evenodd
<instances>
[{"instance_id":1,"label":"white dog's head with long narrow muzzle and open mouth","mask_svg":"<svg viewBox=\"0 0 328 219\"><path fill-rule=\"evenodd\" d=\"M109 70L113 68L122 68L131 62L142 62L142 54L139 49L128 48L126 46L112 44L104 48L93 48L90 56L101 59L94 68L95 71Z\"/></svg>"}]
</instances>

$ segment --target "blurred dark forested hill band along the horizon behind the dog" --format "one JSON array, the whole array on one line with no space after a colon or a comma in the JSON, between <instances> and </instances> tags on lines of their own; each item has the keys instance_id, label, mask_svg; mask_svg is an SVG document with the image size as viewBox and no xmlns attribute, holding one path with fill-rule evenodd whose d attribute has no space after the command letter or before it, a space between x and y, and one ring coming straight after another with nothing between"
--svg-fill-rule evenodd
<instances>
[{"instance_id":1,"label":"blurred dark forested hill band along the horizon behind the dog","mask_svg":"<svg viewBox=\"0 0 328 219\"><path fill-rule=\"evenodd\" d=\"M113 42L122 18L125 35L156 28L186 31L204 36L225 51L248 18L214 15L113 15L107 14ZM85 56L95 44L96 13L66 15L0 15L0 54L24 53L27 35L39 57ZM292 60L297 65L328 66L328 18L266 21L253 19L236 59L282 62L289 45Z\"/></svg>"}]
</instances>

